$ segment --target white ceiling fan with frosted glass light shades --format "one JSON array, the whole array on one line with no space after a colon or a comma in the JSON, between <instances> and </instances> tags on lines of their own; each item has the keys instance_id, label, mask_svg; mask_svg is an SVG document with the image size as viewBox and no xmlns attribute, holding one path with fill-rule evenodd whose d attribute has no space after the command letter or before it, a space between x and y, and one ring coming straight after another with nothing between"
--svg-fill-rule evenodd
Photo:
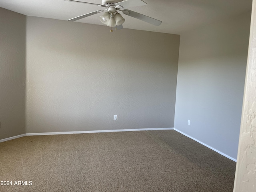
<instances>
[{"instance_id":1,"label":"white ceiling fan with frosted glass light shades","mask_svg":"<svg viewBox=\"0 0 256 192\"><path fill-rule=\"evenodd\" d=\"M91 15L106 11L102 16L100 16L100 21L103 24L110 26L111 32L113 31L112 27L116 27L117 30L123 28L122 24L124 23L125 19L121 16L120 13L118 13L118 11L123 12L123 14L125 15L134 17L144 22L148 22L155 26L159 26L162 23L162 21L160 20L126 9L130 7L146 5L146 3L142 0L124 0L124 1L123 0L102 0L102 4L94 4L94 3L82 2L82 1L76 1L76 0L64 0L64 1L85 3L85 4L96 5L99 7L106 8L104 10L97 10L94 12L90 12L90 13L69 19L68 21L76 21Z\"/></svg>"}]
</instances>

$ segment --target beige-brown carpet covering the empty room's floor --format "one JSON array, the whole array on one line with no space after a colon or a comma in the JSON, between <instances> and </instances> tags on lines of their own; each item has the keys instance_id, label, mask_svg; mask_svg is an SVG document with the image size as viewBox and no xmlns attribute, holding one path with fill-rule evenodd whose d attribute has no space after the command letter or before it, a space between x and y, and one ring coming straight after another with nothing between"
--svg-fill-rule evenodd
<instances>
[{"instance_id":1,"label":"beige-brown carpet covering the empty room's floor","mask_svg":"<svg viewBox=\"0 0 256 192\"><path fill-rule=\"evenodd\" d=\"M0 181L12 181L1 192L232 192L235 168L232 160L174 130L0 143Z\"/></svg>"}]
</instances>

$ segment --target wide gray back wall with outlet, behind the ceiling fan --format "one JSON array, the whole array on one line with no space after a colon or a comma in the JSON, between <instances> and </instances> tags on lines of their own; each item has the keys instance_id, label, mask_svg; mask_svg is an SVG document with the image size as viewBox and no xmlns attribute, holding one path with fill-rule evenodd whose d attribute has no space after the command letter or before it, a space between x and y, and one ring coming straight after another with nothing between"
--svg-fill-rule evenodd
<instances>
[{"instance_id":1,"label":"wide gray back wall with outlet, behind the ceiling fan","mask_svg":"<svg viewBox=\"0 0 256 192\"><path fill-rule=\"evenodd\" d=\"M26 132L173 127L179 41L27 17Z\"/></svg>"}]
</instances>

